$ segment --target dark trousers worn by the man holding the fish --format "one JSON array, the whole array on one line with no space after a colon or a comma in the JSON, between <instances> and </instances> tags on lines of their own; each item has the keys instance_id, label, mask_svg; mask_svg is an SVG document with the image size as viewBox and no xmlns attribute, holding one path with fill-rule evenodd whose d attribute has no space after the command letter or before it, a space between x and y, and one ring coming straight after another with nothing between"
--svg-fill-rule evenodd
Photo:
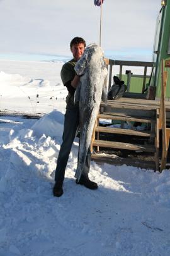
<instances>
[{"instance_id":1,"label":"dark trousers worn by the man holding the fish","mask_svg":"<svg viewBox=\"0 0 170 256\"><path fill-rule=\"evenodd\" d=\"M69 106L65 112L64 131L62 135L62 145L60 147L59 156L57 159L57 167L55 170L55 182L63 182L65 168L71 152L72 143L76 136L77 127L79 126L79 106ZM79 157L79 156L78 156ZM83 176L88 176L91 162L91 151L88 149L86 164L82 170Z\"/></svg>"}]
</instances>

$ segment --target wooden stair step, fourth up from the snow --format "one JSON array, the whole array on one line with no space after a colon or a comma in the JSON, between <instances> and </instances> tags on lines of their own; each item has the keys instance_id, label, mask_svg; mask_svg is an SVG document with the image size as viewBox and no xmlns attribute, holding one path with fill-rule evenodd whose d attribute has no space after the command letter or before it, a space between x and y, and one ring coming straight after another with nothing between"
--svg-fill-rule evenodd
<instances>
[{"instance_id":1,"label":"wooden stair step, fourth up from the snow","mask_svg":"<svg viewBox=\"0 0 170 256\"><path fill-rule=\"evenodd\" d=\"M111 119L111 120L120 120L120 121L137 121L140 123L152 123L155 119L152 118L138 118L133 116L128 116L126 114L120 113L110 113L110 114L98 114L98 119Z\"/></svg>"}]
</instances>

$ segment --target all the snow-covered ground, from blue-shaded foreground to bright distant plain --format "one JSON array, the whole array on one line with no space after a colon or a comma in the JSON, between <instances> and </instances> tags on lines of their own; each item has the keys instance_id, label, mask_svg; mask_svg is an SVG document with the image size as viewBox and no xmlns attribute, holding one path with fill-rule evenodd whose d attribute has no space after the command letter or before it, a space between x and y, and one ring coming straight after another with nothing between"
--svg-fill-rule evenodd
<instances>
[{"instance_id":1,"label":"all the snow-covered ground, from blue-shaded foreground to bright distant plain","mask_svg":"<svg viewBox=\"0 0 170 256\"><path fill-rule=\"evenodd\" d=\"M47 113L0 117L0 256L169 256L169 171L91 162L99 188L88 190L74 180L76 138L64 195L53 197L67 95L61 66L0 61L1 111Z\"/></svg>"}]
</instances>

